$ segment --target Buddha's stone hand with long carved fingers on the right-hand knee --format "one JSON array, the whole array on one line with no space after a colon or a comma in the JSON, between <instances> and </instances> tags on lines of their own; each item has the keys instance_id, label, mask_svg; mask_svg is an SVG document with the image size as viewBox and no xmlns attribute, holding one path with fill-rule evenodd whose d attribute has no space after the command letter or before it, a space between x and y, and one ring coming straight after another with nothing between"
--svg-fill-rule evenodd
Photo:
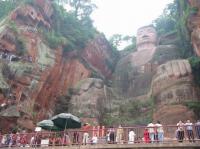
<instances>
[{"instance_id":1,"label":"Buddha's stone hand with long carved fingers on the right-hand knee","mask_svg":"<svg viewBox=\"0 0 200 149\"><path fill-rule=\"evenodd\" d=\"M152 95L184 82L192 83L192 70L187 60L173 60L160 65L152 81Z\"/></svg>"}]
</instances>

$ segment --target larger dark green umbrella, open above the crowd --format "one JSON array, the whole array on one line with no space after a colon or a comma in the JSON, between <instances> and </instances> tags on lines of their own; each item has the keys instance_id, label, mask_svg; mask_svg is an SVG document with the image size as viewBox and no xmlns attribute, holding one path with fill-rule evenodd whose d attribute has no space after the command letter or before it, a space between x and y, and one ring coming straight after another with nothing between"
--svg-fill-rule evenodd
<instances>
[{"instance_id":1,"label":"larger dark green umbrella, open above the crowd","mask_svg":"<svg viewBox=\"0 0 200 149\"><path fill-rule=\"evenodd\" d=\"M70 113L60 113L52 117L51 120L54 122L54 125L63 130L68 128L81 128L80 119Z\"/></svg>"}]
</instances>

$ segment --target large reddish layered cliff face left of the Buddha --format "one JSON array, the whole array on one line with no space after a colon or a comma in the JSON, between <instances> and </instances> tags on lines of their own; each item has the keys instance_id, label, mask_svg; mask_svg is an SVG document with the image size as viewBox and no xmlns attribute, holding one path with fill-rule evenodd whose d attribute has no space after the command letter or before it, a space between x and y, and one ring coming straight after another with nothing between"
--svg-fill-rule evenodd
<instances>
[{"instance_id":1,"label":"large reddish layered cliff face left of the Buddha","mask_svg":"<svg viewBox=\"0 0 200 149\"><path fill-rule=\"evenodd\" d=\"M4 130L11 126L33 129L34 123L54 114L58 98L81 80L95 77L94 74L103 79L112 75L116 58L103 35L96 35L81 52L63 53L62 47L51 49L46 44L37 27L51 29L52 13L50 1L36 0L35 5L26 4L11 13L7 19L14 22L14 27L0 23L0 128L8 121L12 123ZM87 114L83 111L85 116L98 116L94 108L96 100L103 96L103 81L92 82L92 90L83 89L94 95L93 109ZM89 93L78 98L86 107ZM77 96L71 100L74 106L76 99Z\"/></svg>"}]
</instances>

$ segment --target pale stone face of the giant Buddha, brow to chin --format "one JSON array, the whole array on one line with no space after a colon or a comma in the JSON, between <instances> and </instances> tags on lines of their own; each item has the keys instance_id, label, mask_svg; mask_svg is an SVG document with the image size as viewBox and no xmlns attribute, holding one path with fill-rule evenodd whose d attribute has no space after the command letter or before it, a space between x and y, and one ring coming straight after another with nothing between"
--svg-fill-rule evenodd
<instances>
[{"instance_id":1,"label":"pale stone face of the giant Buddha, brow to chin","mask_svg":"<svg viewBox=\"0 0 200 149\"><path fill-rule=\"evenodd\" d=\"M137 46L140 46L144 43L156 44L156 39L156 30L151 26L140 28L137 31Z\"/></svg>"}]
</instances>

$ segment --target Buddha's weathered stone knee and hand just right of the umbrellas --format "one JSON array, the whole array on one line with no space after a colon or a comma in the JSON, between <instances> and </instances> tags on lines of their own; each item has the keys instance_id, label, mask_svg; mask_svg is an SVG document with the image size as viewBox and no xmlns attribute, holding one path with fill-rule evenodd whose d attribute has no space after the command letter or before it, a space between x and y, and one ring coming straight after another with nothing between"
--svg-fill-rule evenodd
<instances>
[{"instance_id":1,"label":"Buddha's weathered stone knee and hand just right of the umbrellas","mask_svg":"<svg viewBox=\"0 0 200 149\"><path fill-rule=\"evenodd\" d=\"M71 110L75 115L96 118L99 116L98 106L104 101L104 83L100 79L88 78L80 81L71 99Z\"/></svg>"}]
</instances>

